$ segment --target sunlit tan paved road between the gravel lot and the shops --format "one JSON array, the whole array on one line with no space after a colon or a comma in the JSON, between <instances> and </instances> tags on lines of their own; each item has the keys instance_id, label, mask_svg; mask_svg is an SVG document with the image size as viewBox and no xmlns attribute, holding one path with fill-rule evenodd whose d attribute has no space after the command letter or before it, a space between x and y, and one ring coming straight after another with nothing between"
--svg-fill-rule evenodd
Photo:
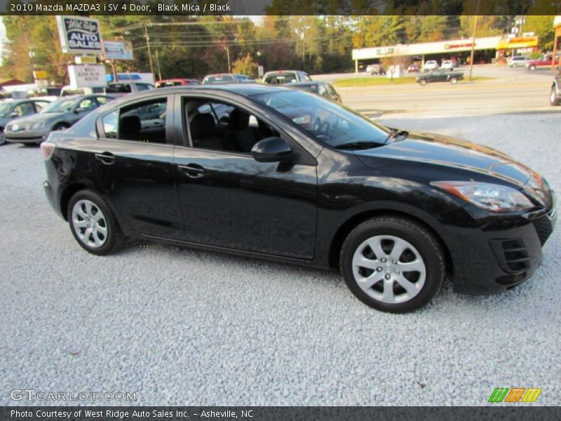
<instances>
[{"instance_id":1,"label":"sunlit tan paved road between the gravel lot and the shops","mask_svg":"<svg viewBox=\"0 0 561 421\"><path fill-rule=\"evenodd\" d=\"M460 68L467 76L467 68ZM550 86L555 72L525 68L475 66L473 76L485 81L429 83L427 86L361 86L338 88L345 105L367 116L380 113L414 113L426 116L465 116L507 112L551 112ZM313 79L334 81L356 74L314 75ZM370 76L362 74L365 77Z\"/></svg>"}]
</instances>

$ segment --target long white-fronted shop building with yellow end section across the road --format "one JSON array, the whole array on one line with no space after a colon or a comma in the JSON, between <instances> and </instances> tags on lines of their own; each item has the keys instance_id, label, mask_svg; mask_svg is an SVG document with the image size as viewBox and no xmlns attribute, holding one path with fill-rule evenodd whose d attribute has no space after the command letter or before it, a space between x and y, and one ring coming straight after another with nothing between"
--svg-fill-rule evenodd
<instances>
[{"instance_id":1,"label":"long white-fronted shop building with yellow end section across the road","mask_svg":"<svg viewBox=\"0 0 561 421\"><path fill-rule=\"evenodd\" d=\"M379 63L390 58L396 62L419 62L420 65L428 60L450 60L468 62L471 49L474 50L475 63L501 61L510 55L530 53L538 46L537 36L522 36L503 38L502 36L486 36L471 38L448 39L446 41L425 42L419 44L396 44L394 46L377 46L370 48L353 48L355 71L366 69L367 65Z\"/></svg>"}]
</instances>

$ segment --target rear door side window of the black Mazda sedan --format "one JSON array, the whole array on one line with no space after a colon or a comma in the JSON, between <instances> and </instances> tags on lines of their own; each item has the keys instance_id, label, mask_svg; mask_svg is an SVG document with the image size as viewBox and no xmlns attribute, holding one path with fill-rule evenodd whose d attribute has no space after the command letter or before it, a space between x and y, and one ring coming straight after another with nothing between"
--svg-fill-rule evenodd
<instances>
[{"instance_id":1,"label":"rear door side window of the black Mazda sedan","mask_svg":"<svg viewBox=\"0 0 561 421\"><path fill-rule=\"evenodd\" d=\"M167 99L137 102L102 116L105 138L165 143Z\"/></svg>"}]
</instances>

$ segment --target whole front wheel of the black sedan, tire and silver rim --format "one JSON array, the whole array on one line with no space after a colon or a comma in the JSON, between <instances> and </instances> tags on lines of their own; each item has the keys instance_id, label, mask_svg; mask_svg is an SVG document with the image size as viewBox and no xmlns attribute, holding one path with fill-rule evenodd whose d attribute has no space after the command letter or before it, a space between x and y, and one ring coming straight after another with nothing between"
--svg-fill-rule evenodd
<instances>
[{"instance_id":1,"label":"whole front wheel of the black sedan, tire and silver rim","mask_svg":"<svg viewBox=\"0 0 561 421\"><path fill-rule=\"evenodd\" d=\"M403 270L407 264L414 266ZM435 236L417 222L391 216L367 220L353 229L343 244L340 266L358 300L389 313L424 307L445 276L444 253Z\"/></svg>"}]
</instances>

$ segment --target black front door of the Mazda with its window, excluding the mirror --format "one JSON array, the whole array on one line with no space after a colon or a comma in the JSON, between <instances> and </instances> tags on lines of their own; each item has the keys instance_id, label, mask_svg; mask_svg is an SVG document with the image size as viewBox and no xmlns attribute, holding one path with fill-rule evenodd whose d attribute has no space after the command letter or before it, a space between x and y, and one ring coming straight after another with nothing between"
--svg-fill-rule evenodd
<instances>
[{"instance_id":1,"label":"black front door of the Mazda with its window, excluding the mirror","mask_svg":"<svg viewBox=\"0 0 561 421\"><path fill-rule=\"evenodd\" d=\"M252 145L281 134L245 109L195 97L182 97L180 104L185 146L175 148L174 163L185 239L313 258L316 166L297 159L292 163L255 161Z\"/></svg>"}]
</instances>

